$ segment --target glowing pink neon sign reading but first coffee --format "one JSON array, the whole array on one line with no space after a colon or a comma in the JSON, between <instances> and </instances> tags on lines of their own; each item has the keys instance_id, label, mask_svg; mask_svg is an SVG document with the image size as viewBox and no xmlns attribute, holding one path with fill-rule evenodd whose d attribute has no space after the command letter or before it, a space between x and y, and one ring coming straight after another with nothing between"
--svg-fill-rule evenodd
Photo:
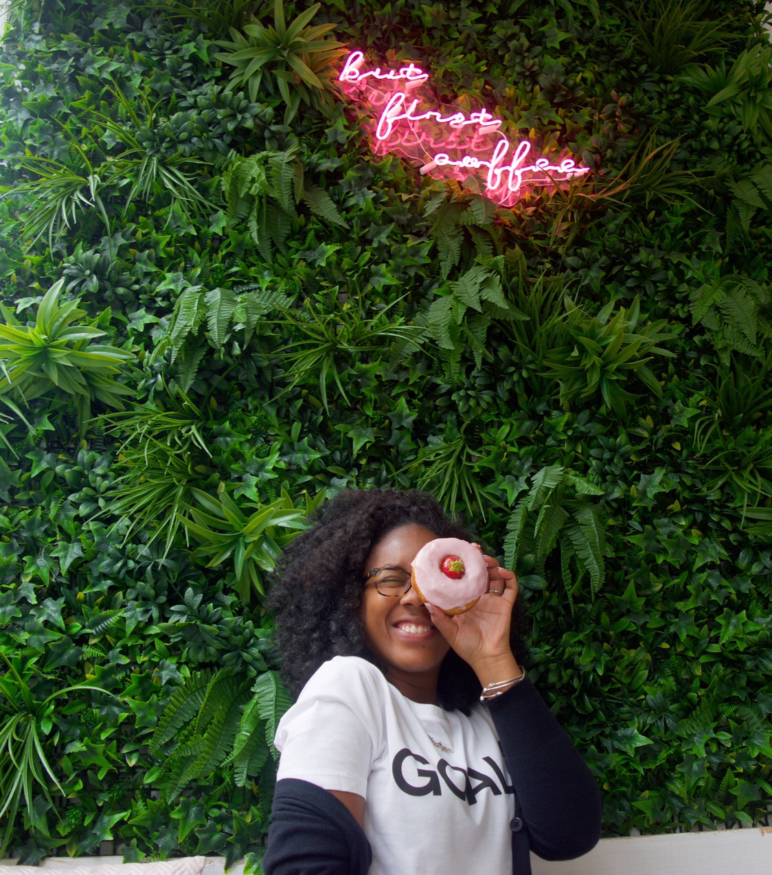
<instances>
[{"instance_id":1,"label":"glowing pink neon sign reading but first coffee","mask_svg":"<svg viewBox=\"0 0 772 875\"><path fill-rule=\"evenodd\" d=\"M363 69L364 64L364 54L352 52L338 81L371 111L376 154L418 158L422 173L458 179L505 206L530 187L555 186L590 172L573 158L562 158L557 164L549 158L533 160L528 140L513 149L499 131L502 119L487 109L469 113L457 107L438 109L427 87L429 73L412 61L398 70Z\"/></svg>"}]
</instances>

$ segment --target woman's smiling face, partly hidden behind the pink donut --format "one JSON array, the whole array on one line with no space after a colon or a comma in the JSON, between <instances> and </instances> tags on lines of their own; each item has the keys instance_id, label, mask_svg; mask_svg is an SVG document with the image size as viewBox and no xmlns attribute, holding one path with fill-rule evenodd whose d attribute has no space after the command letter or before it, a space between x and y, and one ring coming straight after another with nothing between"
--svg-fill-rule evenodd
<instances>
[{"instance_id":1,"label":"woman's smiling face, partly hidden behind the pink donut","mask_svg":"<svg viewBox=\"0 0 772 875\"><path fill-rule=\"evenodd\" d=\"M362 577L372 568L410 572L418 550L436 537L414 523L392 529L375 544ZM390 683L415 702L436 703L439 666L450 645L432 625L416 591L396 598L382 596L371 578L362 591L360 616L368 648L386 665Z\"/></svg>"}]
</instances>

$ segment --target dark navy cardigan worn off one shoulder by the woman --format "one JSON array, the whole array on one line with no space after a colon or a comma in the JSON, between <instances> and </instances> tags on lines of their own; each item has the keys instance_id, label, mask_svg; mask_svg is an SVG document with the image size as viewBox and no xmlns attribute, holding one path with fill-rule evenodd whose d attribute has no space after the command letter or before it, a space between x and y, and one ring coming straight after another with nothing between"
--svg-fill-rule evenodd
<instances>
[{"instance_id":1,"label":"dark navy cardigan worn off one shoulder by the woman","mask_svg":"<svg viewBox=\"0 0 772 875\"><path fill-rule=\"evenodd\" d=\"M530 875L529 851L570 860L600 838L603 802L571 739L525 678L488 703L515 788L512 870ZM372 852L350 812L308 781L278 781L265 875L367 875Z\"/></svg>"}]
</instances>

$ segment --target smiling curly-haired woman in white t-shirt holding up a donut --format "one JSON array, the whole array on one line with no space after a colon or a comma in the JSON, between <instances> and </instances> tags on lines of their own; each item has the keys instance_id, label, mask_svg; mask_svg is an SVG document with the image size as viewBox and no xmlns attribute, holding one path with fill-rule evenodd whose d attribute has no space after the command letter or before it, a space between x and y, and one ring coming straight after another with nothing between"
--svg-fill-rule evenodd
<instances>
[{"instance_id":1,"label":"smiling curly-haired woman in white t-shirt holding up a donut","mask_svg":"<svg viewBox=\"0 0 772 875\"><path fill-rule=\"evenodd\" d=\"M526 875L529 850L598 841L597 785L518 659L515 575L486 556L471 611L424 605L411 561L436 537L470 540L425 493L347 490L287 549L271 607L299 697L266 875Z\"/></svg>"}]
</instances>

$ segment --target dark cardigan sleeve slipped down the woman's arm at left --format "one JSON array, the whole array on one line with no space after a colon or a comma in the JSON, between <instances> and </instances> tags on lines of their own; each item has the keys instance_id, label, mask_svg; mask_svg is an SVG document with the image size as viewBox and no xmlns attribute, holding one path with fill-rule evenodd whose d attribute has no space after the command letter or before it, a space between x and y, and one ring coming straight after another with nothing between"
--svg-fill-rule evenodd
<instances>
[{"instance_id":1,"label":"dark cardigan sleeve slipped down the woman's arm at left","mask_svg":"<svg viewBox=\"0 0 772 875\"><path fill-rule=\"evenodd\" d=\"M367 875L367 837L346 806L309 781L277 781L264 875Z\"/></svg>"}]
</instances>

